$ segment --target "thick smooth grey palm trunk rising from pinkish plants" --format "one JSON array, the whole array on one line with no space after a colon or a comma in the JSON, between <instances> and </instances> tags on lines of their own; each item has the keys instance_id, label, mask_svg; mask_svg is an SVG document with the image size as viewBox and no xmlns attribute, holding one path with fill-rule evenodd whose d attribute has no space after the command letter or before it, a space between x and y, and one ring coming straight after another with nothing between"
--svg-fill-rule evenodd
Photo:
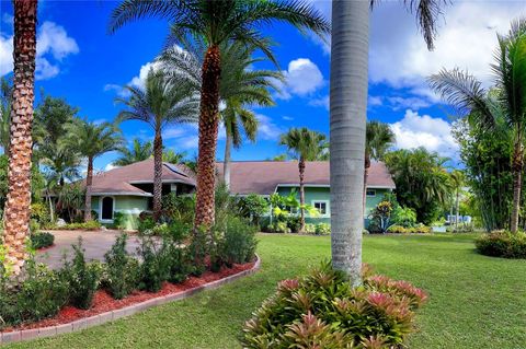
<instances>
[{"instance_id":1,"label":"thick smooth grey palm trunk rising from pinkish plants","mask_svg":"<svg viewBox=\"0 0 526 349\"><path fill-rule=\"evenodd\" d=\"M332 2L332 265L362 283L364 154L369 42L368 0Z\"/></svg>"}]
</instances>

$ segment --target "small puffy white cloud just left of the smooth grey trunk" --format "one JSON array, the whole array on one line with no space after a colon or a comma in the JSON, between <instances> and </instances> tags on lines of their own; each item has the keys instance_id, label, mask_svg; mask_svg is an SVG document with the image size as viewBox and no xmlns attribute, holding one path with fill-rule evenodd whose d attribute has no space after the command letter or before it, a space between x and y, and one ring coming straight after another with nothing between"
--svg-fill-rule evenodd
<instances>
[{"instance_id":1,"label":"small puffy white cloud just left of the smooth grey trunk","mask_svg":"<svg viewBox=\"0 0 526 349\"><path fill-rule=\"evenodd\" d=\"M283 100L309 95L325 84L320 69L308 58L291 60L283 74L285 84L277 83L282 90L278 97Z\"/></svg>"}]
</instances>

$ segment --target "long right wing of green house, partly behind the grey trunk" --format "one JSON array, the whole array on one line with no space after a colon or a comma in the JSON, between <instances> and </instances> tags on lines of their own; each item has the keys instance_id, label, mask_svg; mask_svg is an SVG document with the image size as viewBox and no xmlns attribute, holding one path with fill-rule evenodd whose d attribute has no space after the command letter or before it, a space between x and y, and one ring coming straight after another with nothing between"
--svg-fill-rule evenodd
<instances>
[{"instance_id":1,"label":"long right wing of green house, partly behind the grey trunk","mask_svg":"<svg viewBox=\"0 0 526 349\"><path fill-rule=\"evenodd\" d=\"M219 176L222 163L217 164ZM297 161L240 161L230 167L230 190L236 195L252 193L271 196L277 193L287 196L295 189L299 198L299 173ZM367 178L367 197L364 219L370 214L384 194L395 189L387 166L382 162L371 162ZM320 211L319 217L307 217L307 222L330 222L330 171L328 161L310 161L305 170L305 201ZM367 221L366 221L367 224Z\"/></svg>"}]
</instances>

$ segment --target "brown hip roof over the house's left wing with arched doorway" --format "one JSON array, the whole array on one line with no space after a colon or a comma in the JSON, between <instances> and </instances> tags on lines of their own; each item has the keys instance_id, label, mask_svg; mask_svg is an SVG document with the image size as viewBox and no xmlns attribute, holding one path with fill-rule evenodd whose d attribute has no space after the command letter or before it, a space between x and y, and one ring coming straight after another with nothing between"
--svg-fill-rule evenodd
<instances>
[{"instance_id":1,"label":"brown hip roof over the house's left wing with arched doorway","mask_svg":"<svg viewBox=\"0 0 526 349\"><path fill-rule=\"evenodd\" d=\"M162 164L163 183L182 183L195 186L195 181L178 165ZM85 184L85 179L83 181ZM113 168L93 176L92 195L151 196L133 184L153 183L153 159Z\"/></svg>"}]
</instances>

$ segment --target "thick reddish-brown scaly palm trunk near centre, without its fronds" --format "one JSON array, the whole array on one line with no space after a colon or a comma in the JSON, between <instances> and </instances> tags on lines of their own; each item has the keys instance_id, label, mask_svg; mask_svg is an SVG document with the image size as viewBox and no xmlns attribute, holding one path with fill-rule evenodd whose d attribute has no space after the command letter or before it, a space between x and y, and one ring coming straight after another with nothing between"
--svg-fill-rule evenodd
<instances>
[{"instance_id":1,"label":"thick reddish-brown scaly palm trunk near centre, without its fronds","mask_svg":"<svg viewBox=\"0 0 526 349\"><path fill-rule=\"evenodd\" d=\"M215 219L214 189L221 75L220 53L217 45L206 50L202 75L195 228L210 226Z\"/></svg>"}]
</instances>

